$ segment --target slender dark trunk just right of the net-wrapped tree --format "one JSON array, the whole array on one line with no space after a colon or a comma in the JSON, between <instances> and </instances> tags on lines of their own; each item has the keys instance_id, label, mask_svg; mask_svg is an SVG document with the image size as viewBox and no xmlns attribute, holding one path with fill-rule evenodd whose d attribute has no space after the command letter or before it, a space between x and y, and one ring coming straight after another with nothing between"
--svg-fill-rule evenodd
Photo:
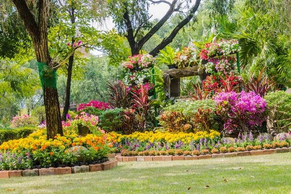
<instances>
[{"instance_id":1,"label":"slender dark trunk just right of the net-wrapped tree","mask_svg":"<svg viewBox=\"0 0 291 194\"><path fill-rule=\"evenodd\" d=\"M72 39L72 45L74 44L75 40ZM62 121L66 121L66 115L70 109L70 95L71 95L71 81L72 81L72 70L73 70L73 62L74 62L74 54L69 57L69 65L67 69L67 82L66 82L66 89L65 89L65 104L64 110L62 115Z\"/></svg>"}]
</instances>

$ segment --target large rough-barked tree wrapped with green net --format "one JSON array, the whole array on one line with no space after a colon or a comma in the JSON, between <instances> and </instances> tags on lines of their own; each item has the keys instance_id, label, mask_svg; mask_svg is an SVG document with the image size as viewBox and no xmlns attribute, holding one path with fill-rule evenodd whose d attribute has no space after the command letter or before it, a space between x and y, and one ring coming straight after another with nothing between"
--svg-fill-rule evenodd
<instances>
[{"instance_id":1,"label":"large rough-barked tree wrapped with green net","mask_svg":"<svg viewBox=\"0 0 291 194\"><path fill-rule=\"evenodd\" d=\"M37 62L39 63L40 80L42 82L44 104L46 108L47 137L63 135L58 90L56 86L56 70L62 63L52 60L48 45L48 18L53 4L49 0L12 0L17 12L29 33ZM30 9L37 6L37 9ZM35 14L35 10L36 14ZM35 15L34 15L35 14Z\"/></svg>"}]
</instances>

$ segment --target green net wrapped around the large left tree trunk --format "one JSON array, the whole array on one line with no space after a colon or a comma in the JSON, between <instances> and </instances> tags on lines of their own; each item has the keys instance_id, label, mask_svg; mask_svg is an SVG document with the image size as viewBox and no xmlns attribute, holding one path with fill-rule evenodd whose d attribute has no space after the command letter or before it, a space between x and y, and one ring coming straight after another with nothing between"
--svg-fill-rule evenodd
<instances>
[{"instance_id":1,"label":"green net wrapped around the large left tree trunk","mask_svg":"<svg viewBox=\"0 0 291 194\"><path fill-rule=\"evenodd\" d=\"M37 62L37 67L42 89L44 90L44 86L57 89L57 71L49 68L45 63Z\"/></svg>"}]
</instances>

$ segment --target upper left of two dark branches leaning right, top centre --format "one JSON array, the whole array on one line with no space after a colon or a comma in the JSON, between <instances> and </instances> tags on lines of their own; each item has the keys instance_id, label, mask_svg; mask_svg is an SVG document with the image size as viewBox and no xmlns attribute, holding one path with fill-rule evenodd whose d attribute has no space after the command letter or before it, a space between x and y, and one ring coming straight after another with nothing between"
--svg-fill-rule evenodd
<instances>
[{"instance_id":1,"label":"upper left of two dark branches leaning right, top centre","mask_svg":"<svg viewBox=\"0 0 291 194\"><path fill-rule=\"evenodd\" d=\"M138 50L140 50L144 46L146 41L148 41L148 39L150 39L150 37L152 37L162 27L162 25L170 18L170 16L172 16L175 10L176 3L177 0L173 0L170 5L170 9L162 17L162 19L137 43Z\"/></svg>"}]
</instances>

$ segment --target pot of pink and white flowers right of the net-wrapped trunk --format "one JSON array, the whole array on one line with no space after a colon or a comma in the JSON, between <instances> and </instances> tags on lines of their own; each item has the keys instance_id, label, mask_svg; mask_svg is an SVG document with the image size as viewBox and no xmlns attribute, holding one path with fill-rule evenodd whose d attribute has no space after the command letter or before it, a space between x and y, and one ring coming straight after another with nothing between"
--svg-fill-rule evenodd
<instances>
[{"instance_id":1,"label":"pot of pink and white flowers right of the net-wrapped trunk","mask_svg":"<svg viewBox=\"0 0 291 194\"><path fill-rule=\"evenodd\" d=\"M72 125L75 125L78 127L78 134L81 136L86 136L90 128L93 129L98 124L98 116L94 116L91 114L81 112L80 115L75 116L75 120L72 121Z\"/></svg>"}]
</instances>

